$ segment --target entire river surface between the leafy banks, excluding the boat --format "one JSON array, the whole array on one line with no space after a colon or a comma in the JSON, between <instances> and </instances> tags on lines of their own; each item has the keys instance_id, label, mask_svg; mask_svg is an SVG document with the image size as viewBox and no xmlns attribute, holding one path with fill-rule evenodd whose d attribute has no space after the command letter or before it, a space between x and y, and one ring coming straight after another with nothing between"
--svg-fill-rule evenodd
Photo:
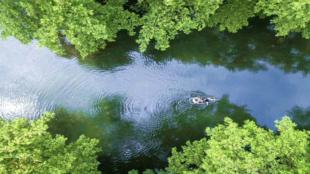
<instances>
[{"instance_id":1,"label":"entire river surface between the leafy banks, excluding the boat","mask_svg":"<svg viewBox=\"0 0 310 174\"><path fill-rule=\"evenodd\" d=\"M53 134L100 139L103 173L165 168L172 147L206 136L204 129L226 116L275 129L273 121L289 115L309 129L310 41L274 37L272 28L255 19L235 34L211 28L146 53L120 34L85 60L70 50L58 57L35 42L1 41L0 116L37 119L55 111ZM184 102L201 95L220 100Z\"/></svg>"}]
</instances>

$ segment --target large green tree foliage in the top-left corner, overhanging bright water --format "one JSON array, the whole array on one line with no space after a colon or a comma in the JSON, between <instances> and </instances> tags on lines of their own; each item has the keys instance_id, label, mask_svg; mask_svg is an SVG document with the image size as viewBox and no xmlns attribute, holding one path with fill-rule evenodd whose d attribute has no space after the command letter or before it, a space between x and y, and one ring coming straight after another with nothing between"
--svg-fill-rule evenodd
<instances>
[{"instance_id":1,"label":"large green tree foliage in the top-left corner, overhanging bright water","mask_svg":"<svg viewBox=\"0 0 310 174\"><path fill-rule=\"evenodd\" d=\"M133 35L137 15L123 9L125 1L108 1L103 6L93 0L34 0L0 2L3 38L14 36L22 43L33 39L39 46L64 54L61 36L75 45L81 56L104 48L119 30Z\"/></svg>"}]
</instances>

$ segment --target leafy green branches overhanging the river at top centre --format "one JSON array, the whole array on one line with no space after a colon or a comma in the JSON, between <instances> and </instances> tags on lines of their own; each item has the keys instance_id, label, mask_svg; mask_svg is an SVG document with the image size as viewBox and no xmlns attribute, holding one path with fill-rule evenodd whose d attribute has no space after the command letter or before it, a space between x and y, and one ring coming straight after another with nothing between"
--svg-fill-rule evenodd
<instances>
[{"instance_id":1,"label":"leafy green branches overhanging the river at top centre","mask_svg":"<svg viewBox=\"0 0 310 174\"><path fill-rule=\"evenodd\" d=\"M156 40L155 49L166 50L169 47L169 41L179 32L188 34L192 29L205 28L210 15L222 1L138 1L137 6L144 11L137 40L140 51L145 51L152 39ZM139 10L137 7L134 9Z\"/></svg>"}]
</instances>

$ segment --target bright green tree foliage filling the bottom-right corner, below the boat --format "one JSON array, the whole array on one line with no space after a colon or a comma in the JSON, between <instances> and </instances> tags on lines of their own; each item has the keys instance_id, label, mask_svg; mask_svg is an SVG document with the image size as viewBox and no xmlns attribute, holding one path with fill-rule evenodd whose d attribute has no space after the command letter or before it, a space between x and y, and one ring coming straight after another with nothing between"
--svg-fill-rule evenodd
<instances>
[{"instance_id":1,"label":"bright green tree foliage filling the bottom-right corner, below the boat","mask_svg":"<svg viewBox=\"0 0 310 174\"><path fill-rule=\"evenodd\" d=\"M207 128L210 139L187 142L168 159L170 173L309 173L309 132L294 129L289 117L275 121L277 132L253 121L242 127L230 118Z\"/></svg>"}]
</instances>

